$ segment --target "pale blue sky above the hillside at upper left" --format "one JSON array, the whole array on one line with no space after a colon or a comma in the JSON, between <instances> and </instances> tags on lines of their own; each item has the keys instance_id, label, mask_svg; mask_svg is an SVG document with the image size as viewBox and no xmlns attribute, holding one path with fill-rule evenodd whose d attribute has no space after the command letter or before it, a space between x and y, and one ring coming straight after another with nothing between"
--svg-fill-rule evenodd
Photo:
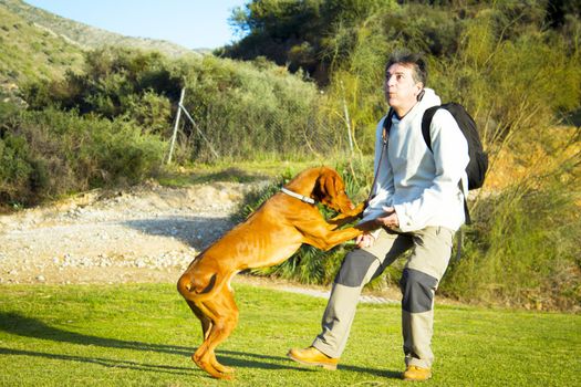
<instances>
[{"instance_id":1,"label":"pale blue sky above the hillside at upper left","mask_svg":"<svg viewBox=\"0 0 581 387\"><path fill-rule=\"evenodd\" d=\"M24 0L58 15L127 36L215 49L238 40L231 10L249 0Z\"/></svg>"}]
</instances>

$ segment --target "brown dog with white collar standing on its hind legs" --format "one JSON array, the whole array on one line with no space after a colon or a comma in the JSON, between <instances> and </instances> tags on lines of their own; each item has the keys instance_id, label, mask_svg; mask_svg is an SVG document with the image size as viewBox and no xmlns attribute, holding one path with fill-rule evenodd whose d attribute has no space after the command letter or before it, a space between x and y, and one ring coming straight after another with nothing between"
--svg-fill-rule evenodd
<instances>
[{"instance_id":1,"label":"brown dog with white collar standing on its hind legs","mask_svg":"<svg viewBox=\"0 0 581 387\"><path fill-rule=\"evenodd\" d=\"M210 245L189 264L177 289L201 321L204 343L191 359L216 378L234 369L218 363L214 351L238 323L230 280L245 269L271 266L290 258L302 243L329 250L361 234L355 228L335 230L363 209L354 208L339 174L328 167L299 174L243 223ZM341 212L326 222L314 201Z\"/></svg>"}]
</instances>

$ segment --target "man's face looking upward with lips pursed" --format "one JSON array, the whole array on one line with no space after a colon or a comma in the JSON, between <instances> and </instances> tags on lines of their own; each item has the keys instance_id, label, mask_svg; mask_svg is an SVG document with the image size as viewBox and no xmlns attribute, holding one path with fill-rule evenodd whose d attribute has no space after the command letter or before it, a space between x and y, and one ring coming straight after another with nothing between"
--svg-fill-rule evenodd
<instances>
[{"instance_id":1,"label":"man's face looking upward with lips pursed","mask_svg":"<svg viewBox=\"0 0 581 387\"><path fill-rule=\"evenodd\" d=\"M385 101L396 113L407 113L417 102L417 95L424 85L415 82L412 65L395 63L385 73L384 93Z\"/></svg>"}]
</instances>

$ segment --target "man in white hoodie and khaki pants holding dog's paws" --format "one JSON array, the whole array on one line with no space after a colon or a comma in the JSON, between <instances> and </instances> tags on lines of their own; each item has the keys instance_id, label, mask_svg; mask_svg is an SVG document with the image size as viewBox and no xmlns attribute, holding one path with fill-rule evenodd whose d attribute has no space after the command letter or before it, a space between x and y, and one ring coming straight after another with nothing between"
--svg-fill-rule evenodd
<instances>
[{"instance_id":1,"label":"man in white hoodie and khaki pants holding dog's paws","mask_svg":"<svg viewBox=\"0 0 581 387\"><path fill-rule=\"evenodd\" d=\"M361 221L372 224L357 237L338 273L322 332L311 347L291 349L301 364L336 369L363 286L412 249L400 285L406 380L432 377L434 294L452 253L455 231L464 223L468 145L452 114L438 109L430 125L433 150L422 135L426 108L439 105L425 88L427 71L417 54L393 54L385 67L384 93L393 111L377 125L374 196ZM391 119L386 149L383 122Z\"/></svg>"}]
</instances>

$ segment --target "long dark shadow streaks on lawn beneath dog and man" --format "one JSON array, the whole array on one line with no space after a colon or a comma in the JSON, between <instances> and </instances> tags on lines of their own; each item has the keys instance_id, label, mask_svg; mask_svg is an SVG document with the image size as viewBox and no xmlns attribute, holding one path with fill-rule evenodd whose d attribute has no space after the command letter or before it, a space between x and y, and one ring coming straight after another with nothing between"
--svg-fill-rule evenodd
<instances>
[{"instance_id":1,"label":"long dark shadow streaks on lawn beneath dog and man","mask_svg":"<svg viewBox=\"0 0 581 387\"><path fill-rule=\"evenodd\" d=\"M39 339L46 339L59 343L70 343L75 345L86 346L100 346L105 348L117 348L117 349L132 349L139 352L156 352L168 355L187 356L189 357L195 348L175 346L175 345L160 345L149 344L142 342L122 341L116 338L105 338L85 335L75 332L64 331L54 326L50 326L46 323L38 320L23 316L18 313L0 312L0 331L22 336ZM136 362L127 362L122 359L107 359L98 357L83 357L72 356L63 354L50 354L34 351L21 351L13 348L0 347L0 355L15 355L15 356L34 356L42 358L51 358L64 362L83 362L98 364L105 367L117 367L117 368L129 368L136 370L148 370L148 372L164 372L169 374L186 375L191 370L198 370L194 365L191 368L188 367L173 367L164 365L153 364L141 364ZM238 351L217 351L216 355L220 362L225 365L239 367L239 368L257 368L257 369L288 369L288 370L304 370L311 372L313 368L304 368L291 363L287 357L283 356L270 356L253 354L249 352ZM372 369L351 365L340 365L340 369L366 373L381 377L400 377L398 373L384 370L384 369ZM201 370L199 370L201 372Z\"/></svg>"}]
</instances>

